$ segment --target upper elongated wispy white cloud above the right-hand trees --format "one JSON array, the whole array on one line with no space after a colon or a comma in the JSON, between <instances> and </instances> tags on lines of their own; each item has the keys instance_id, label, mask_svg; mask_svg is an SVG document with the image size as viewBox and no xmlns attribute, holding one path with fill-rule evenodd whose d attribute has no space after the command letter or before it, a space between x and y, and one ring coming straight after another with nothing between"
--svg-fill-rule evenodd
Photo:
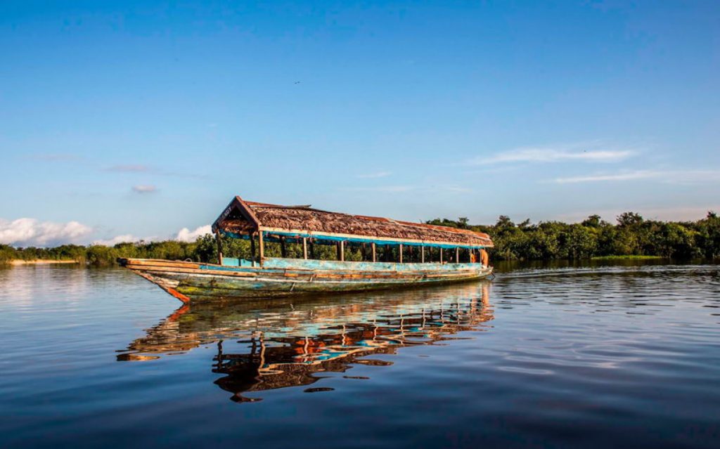
<instances>
[{"instance_id":1,"label":"upper elongated wispy white cloud above the right-hand trees","mask_svg":"<svg viewBox=\"0 0 720 449\"><path fill-rule=\"evenodd\" d=\"M618 162L636 155L636 150L612 148L598 142L542 147L522 147L488 156L477 156L469 165L498 163Z\"/></svg>"}]
</instances>

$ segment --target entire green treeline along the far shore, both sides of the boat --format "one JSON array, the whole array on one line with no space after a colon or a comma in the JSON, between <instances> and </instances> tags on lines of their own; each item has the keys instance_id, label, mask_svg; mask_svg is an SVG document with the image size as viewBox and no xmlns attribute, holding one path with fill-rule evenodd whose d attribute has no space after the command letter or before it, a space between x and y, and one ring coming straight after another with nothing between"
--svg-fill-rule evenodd
<instances>
[{"instance_id":1,"label":"entire green treeline along the far shore, both sides of the boat","mask_svg":"<svg viewBox=\"0 0 720 449\"><path fill-rule=\"evenodd\" d=\"M539 222L529 220L514 223L500 216L495 225L469 225L467 218L457 220L433 219L432 225L444 225L487 232L495 242L490 251L493 260L557 260L585 259L603 256L658 256L663 258L720 258L720 218L714 212L696 222L660 222L643 219L634 212L625 212L611 224L592 215L581 223ZM251 258L251 245L247 240L223 238L223 253L230 257ZM285 245L286 255L302 258L302 246ZM336 248L315 245L315 258L334 260ZM383 253L380 260L397 260L397 249ZM268 257L280 257L278 243L267 242ZM417 255L405 254L411 261ZM60 245L55 248L13 248L0 245L0 264L12 260L76 260L91 266L110 266L117 258L157 258L168 260L217 260L217 244L212 235L199 237L195 242L136 242L119 243L112 247L102 245ZM361 260L361 248L346 248L346 260ZM447 259L446 259L447 260Z\"/></svg>"}]
</instances>

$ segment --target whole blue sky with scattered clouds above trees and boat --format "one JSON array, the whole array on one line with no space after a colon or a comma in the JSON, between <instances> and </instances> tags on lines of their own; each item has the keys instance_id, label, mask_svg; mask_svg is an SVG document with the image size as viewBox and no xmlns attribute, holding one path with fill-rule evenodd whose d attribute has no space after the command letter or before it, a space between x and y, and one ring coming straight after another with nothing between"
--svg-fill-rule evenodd
<instances>
[{"instance_id":1,"label":"whole blue sky with scattered clouds above trees and boat","mask_svg":"<svg viewBox=\"0 0 720 449\"><path fill-rule=\"evenodd\" d=\"M4 1L0 56L0 242L720 210L717 1Z\"/></svg>"}]
</instances>

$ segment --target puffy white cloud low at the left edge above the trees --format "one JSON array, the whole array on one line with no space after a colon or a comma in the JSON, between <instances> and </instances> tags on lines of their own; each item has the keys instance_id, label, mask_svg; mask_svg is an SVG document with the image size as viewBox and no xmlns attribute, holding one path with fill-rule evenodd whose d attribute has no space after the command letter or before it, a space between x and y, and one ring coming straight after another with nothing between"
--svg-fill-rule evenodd
<instances>
[{"instance_id":1,"label":"puffy white cloud low at the left edge above the trees","mask_svg":"<svg viewBox=\"0 0 720 449\"><path fill-rule=\"evenodd\" d=\"M53 246L77 243L89 237L92 228L79 222L40 222L19 218L12 222L0 219L0 243L15 246Z\"/></svg>"}]
</instances>

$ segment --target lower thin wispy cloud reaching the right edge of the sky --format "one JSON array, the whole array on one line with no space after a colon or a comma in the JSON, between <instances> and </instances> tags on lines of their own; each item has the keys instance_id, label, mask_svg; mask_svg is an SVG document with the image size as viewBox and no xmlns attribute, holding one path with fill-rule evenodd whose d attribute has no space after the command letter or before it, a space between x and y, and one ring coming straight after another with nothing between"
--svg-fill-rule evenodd
<instances>
[{"instance_id":1,"label":"lower thin wispy cloud reaching the right edge of the sky","mask_svg":"<svg viewBox=\"0 0 720 449\"><path fill-rule=\"evenodd\" d=\"M656 179L663 183L700 184L720 182L720 170L639 170L624 173L596 173L585 176L555 178L554 183L592 183Z\"/></svg>"}]
</instances>

